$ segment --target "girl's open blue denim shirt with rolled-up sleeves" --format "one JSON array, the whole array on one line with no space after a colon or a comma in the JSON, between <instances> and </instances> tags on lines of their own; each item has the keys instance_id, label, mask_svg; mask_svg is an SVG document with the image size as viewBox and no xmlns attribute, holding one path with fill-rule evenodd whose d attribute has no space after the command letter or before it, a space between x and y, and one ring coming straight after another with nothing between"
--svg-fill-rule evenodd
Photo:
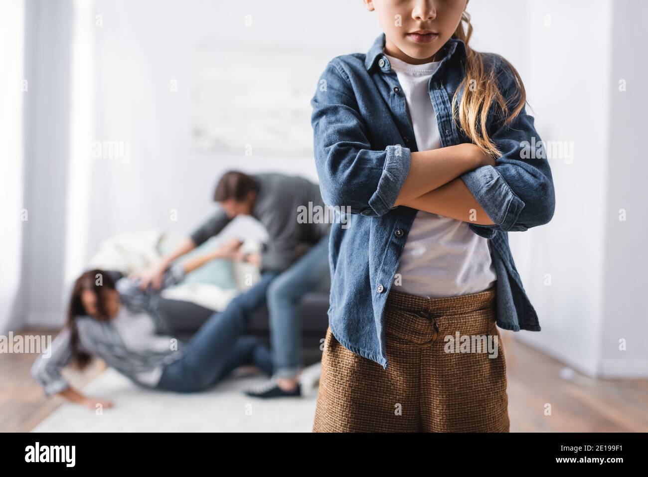
<instances>
[{"instance_id":1,"label":"girl's open blue denim shirt with rolled-up sleeves","mask_svg":"<svg viewBox=\"0 0 648 477\"><path fill-rule=\"evenodd\" d=\"M329 62L311 100L311 123L322 198L327 205L351 211L348 222L333 224L330 233L330 329L347 349L387 368L384 308L417 213L394 204L417 145L406 99L383 54L384 45L381 34L367 54L338 56ZM465 44L450 39L442 54L429 87L445 147L469 142L452 119L450 104L465 75ZM504 99L515 105L519 92L502 57L485 54L485 67L494 69ZM522 110L513 121L505 124L504 119L499 108L491 108L488 131L502 152L496 165L472 170L461 179L494 222L469 226L491 245L497 325L540 331L507 232L551 220L553 181L533 117Z\"/></svg>"}]
</instances>

